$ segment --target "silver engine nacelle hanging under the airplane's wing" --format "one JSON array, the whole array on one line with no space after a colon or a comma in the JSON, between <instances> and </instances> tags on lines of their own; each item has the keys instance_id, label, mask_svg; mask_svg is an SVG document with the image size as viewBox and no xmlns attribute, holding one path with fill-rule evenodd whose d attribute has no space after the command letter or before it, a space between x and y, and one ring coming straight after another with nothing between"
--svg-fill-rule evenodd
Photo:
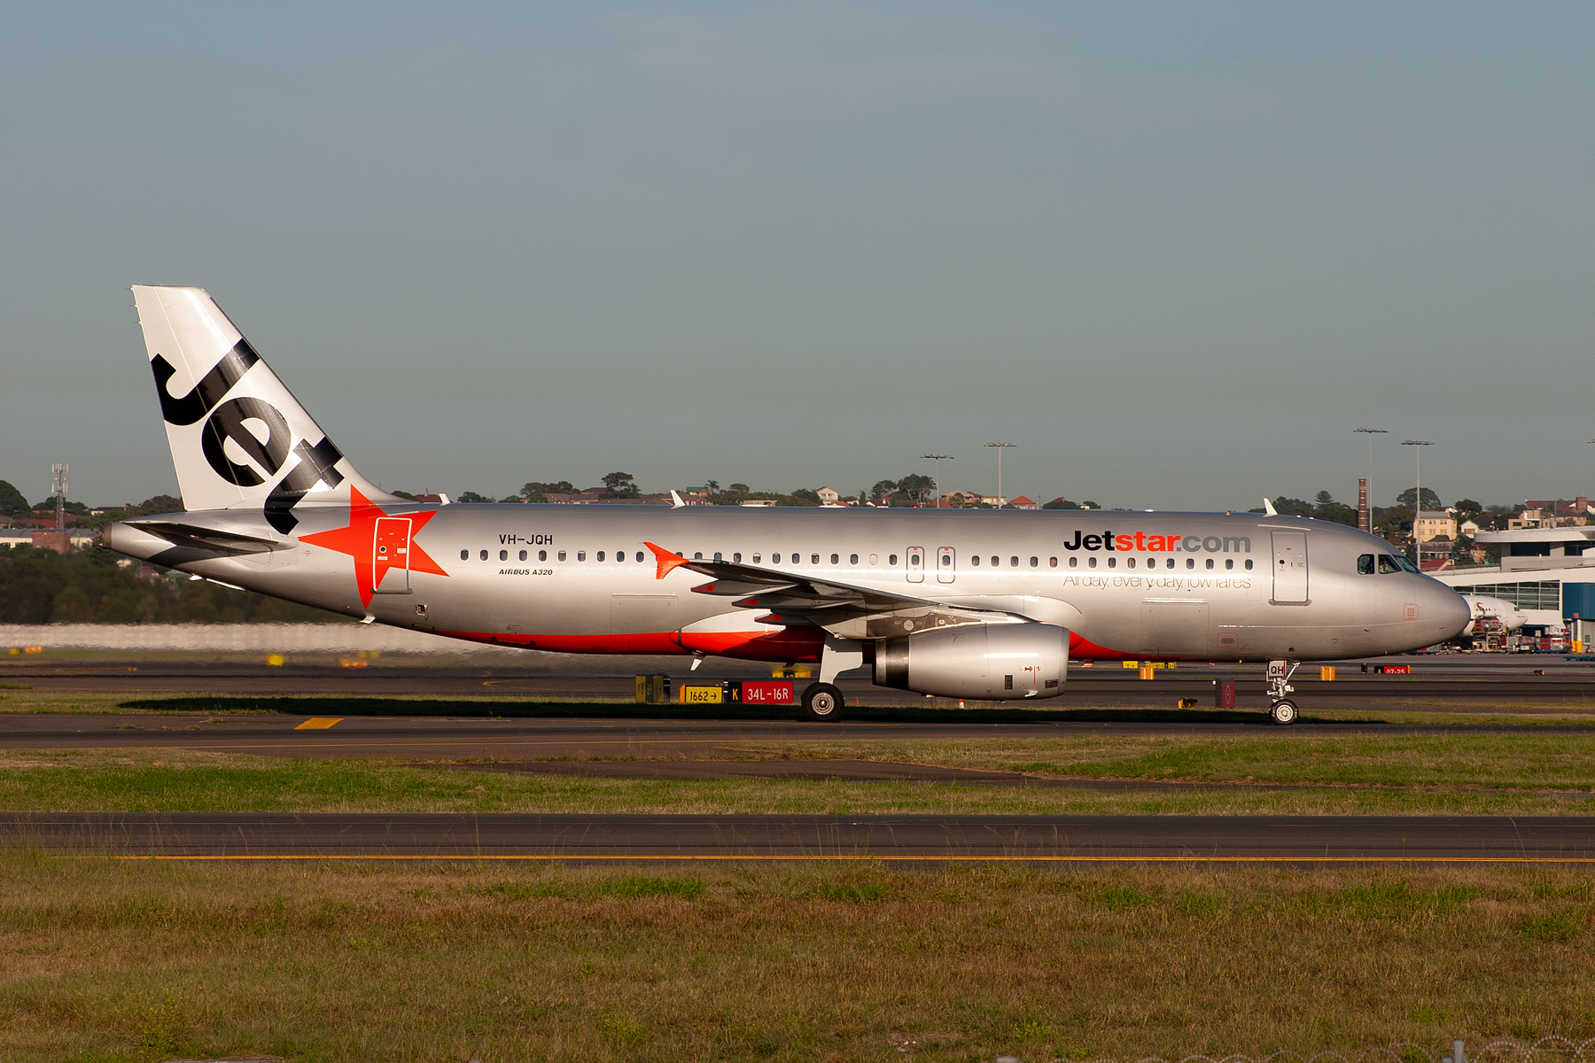
<instances>
[{"instance_id":1,"label":"silver engine nacelle hanging under the airplane's wing","mask_svg":"<svg viewBox=\"0 0 1595 1063\"><path fill-rule=\"evenodd\" d=\"M876 685L941 698L1056 698L1069 631L1053 623L965 625L876 642Z\"/></svg>"}]
</instances>

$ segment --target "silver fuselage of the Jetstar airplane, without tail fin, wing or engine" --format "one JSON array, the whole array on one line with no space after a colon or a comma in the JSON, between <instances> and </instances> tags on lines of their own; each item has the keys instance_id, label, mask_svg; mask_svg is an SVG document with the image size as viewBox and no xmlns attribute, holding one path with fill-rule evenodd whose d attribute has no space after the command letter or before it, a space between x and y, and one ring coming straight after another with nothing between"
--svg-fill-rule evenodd
<instances>
[{"instance_id":1,"label":"silver fuselage of the Jetstar airplane, without tail fin, wing or engine","mask_svg":"<svg viewBox=\"0 0 1595 1063\"><path fill-rule=\"evenodd\" d=\"M112 526L105 540L123 553L351 617L587 653L820 658L820 628L761 622L756 607L694 593L708 580L684 567L660 577L646 543L684 558L719 555L927 604L1056 623L1070 631L1073 658L1337 660L1442 642L1469 620L1463 599L1437 580L1359 572L1361 555L1396 553L1383 539L1284 516L383 505L383 521L410 524L362 537L349 505L301 504L295 515L293 534L276 532L258 510L172 515L190 528L271 543L230 556L174 547L128 524ZM343 548L306 542L340 529L349 529L338 540ZM359 556L365 545L349 547L370 542L380 550L383 535L408 542L408 569L397 556L386 571L373 569ZM370 593L360 588L359 564L381 575Z\"/></svg>"}]
</instances>

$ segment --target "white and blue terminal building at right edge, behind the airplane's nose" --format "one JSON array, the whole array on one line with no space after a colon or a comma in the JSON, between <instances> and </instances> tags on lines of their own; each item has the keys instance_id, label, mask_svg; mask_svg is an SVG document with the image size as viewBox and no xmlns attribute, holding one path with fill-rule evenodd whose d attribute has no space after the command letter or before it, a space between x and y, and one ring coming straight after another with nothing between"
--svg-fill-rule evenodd
<instances>
[{"instance_id":1,"label":"white and blue terminal building at right edge, behind the airplane's nose","mask_svg":"<svg viewBox=\"0 0 1595 1063\"><path fill-rule=\"evenodd\" d=\"M1482 531L1474 542L1499 547L1501 564L1431 575L1463 594L1512 602L1528 614L1525 631L1552 634L1595 620L1595 526Z\"/></svg>"}]
</instances>

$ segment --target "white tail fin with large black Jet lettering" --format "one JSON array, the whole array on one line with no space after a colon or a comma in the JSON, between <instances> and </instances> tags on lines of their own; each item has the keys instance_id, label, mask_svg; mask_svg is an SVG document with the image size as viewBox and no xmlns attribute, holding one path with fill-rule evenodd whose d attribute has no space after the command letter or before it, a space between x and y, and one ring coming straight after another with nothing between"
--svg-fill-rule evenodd
<instances>
[{"instance_id":1,"label":"white tail fin with large black Jet lettering","mask_svg":"<svg viewBox=\"0 0 1595 1063\"><path fill-rule=\"evenodd\" d=\"M354 470L203 288L132 296L185 507L258 507L286 535L300 500L346 502L348 488L399 500Z\"/></svg>"}]
</instances>

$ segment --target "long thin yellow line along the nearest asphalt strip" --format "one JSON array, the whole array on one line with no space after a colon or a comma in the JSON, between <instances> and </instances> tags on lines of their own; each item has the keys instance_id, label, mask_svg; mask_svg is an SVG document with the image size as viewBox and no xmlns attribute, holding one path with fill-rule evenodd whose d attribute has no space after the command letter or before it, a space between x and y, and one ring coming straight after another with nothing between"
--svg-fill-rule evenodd
<instances>
[{"instance_id":1,"label":"long thin yellow line along the nearest asphalt strip","mask_svg":"<svg viewBox=\"0 0 1595 1063\"><path fill-rule=\"evenodd\" d=\"M104 859L78 856L77 859ZM116 856L118 861L874 861L893 864L1595 864L1595 856L705 856L638 853L614 856L439 856L416 854L271 854L271 856Z\"/></svg>"}]
</instances>

